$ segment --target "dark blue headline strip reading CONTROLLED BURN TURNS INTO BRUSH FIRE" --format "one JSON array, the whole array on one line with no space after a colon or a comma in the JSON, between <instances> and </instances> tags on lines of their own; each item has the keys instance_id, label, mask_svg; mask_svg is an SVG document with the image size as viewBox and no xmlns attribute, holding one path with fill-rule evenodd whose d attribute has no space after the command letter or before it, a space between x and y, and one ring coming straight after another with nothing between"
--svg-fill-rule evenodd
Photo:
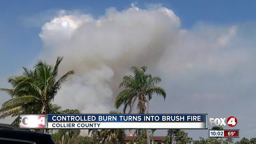
<instances>
[{"instance_id":1,"label":"dark blue headline strip reading CONTROLLED BURN TURNS INTO BRUSH FIRE","mask_svg":"<svg viewBox=\"0 0 256 144\"><path fill-rule=\"evenodd\" d=\"M47 114L47 122L206 122L207 114Z\"/></svg>"}]
</instances>

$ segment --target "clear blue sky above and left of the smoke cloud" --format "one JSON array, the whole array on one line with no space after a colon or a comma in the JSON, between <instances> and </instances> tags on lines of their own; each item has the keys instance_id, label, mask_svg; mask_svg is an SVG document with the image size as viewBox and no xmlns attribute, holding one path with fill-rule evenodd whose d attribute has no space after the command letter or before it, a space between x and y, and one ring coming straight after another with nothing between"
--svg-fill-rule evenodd
<instances>
[{"instance_id":1,"label":"clear blue sky above and left of the smoke cloud","mask_svg":"<svg viewBox=\"0 0 256 144\"><path fill-rule=\"evenodd\" d=\"M26 26L22 18L43 14L49 10L80 10L98 17L105 13L106 8L115 7L117 10L128 8L133 0L54 0L54 1L0 1L0 60L4 67L1 75L8 76L17 69L36 58L42 49L38 37L41 26L52 17L40 20L36 26ZM254 0L140 0L137 6L147 4L162 4L172 9L180 17L181 26L190 28L195 23L203 21L214 24L234 24L255 21L256 2ZM40 19L40 18L38 18ZM29 57L28 57L29 56ZM6 62L8 61L8 62ZM10 63L11 64L10 64Z\"/></svg>"}]
</instances>

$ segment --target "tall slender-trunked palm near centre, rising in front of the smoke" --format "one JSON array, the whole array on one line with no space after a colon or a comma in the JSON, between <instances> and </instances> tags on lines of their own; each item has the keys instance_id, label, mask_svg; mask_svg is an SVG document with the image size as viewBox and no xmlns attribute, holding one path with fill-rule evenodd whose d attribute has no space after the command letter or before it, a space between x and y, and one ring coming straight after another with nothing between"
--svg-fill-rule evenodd
<instances>
[{"instance_id":1,"label":"tall slender-trunked palm near centre, rising in front of the smoke","mask_svg":"<svg viewBox=\"0 0 256 144\"><path fill-rule=\"evenodd\" d=\"M132 112L134 103L138 99L137 109L139 114L148 113L148 102L152 99L152 95L160 95L166 98L165 90L156 86L158 82L161 81L161 78L158 76L152 77L151 74L145 74L147 70L146 66L138 68L132 66L131 70L134 75L124 76L119 87L124 86L124 90L118 94L115 101L116 108L119 108L121 105L124 105L123 113L126 112L127 106L130 107L129 114ZM149 132L147 131L147 142L150 143ZM140 130L137 130L137 134L140 134Z\"/></svg>"}]
</instances>

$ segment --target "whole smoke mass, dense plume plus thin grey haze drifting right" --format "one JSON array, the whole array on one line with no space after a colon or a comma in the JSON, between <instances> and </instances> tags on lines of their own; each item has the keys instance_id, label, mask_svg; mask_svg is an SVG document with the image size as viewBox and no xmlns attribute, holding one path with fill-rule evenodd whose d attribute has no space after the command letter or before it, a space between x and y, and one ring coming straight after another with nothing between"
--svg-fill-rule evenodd
<instances>
[{"instance_id":1,"label":"whole smoke mass, dense plume plus thin grey haze drifting right","mask_svg":"<svg viewBox=\"0 0 256 144\"><path fill-rule=\"evenodd\" d=\"M232 97L232 104L239 105L245 100L242 84L249 84L256 71L250 67L255 51L244 48L239 26L198 23L184 30L178 16L159 5L109 8L99 18L61 14L42 26L40 58L54 63L58 55L64 56L60 74L76 72L54 100L62 109L114 110L122 77L131 66L146 65L148 72L163 79L161 86L167 92L166 102L152 100L151 112L216 114L209 104ZM230 108L218 112L226 115Z\"/></svg>"}]
</instances>

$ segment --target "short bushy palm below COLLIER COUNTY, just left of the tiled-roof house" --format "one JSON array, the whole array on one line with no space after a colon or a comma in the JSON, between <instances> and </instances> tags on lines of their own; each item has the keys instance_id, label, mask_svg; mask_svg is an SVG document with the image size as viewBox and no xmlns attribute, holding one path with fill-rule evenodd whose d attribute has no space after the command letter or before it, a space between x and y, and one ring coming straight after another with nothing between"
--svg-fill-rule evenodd
<instances>
[{"instance_id":1,"label":"short bushy palm below COLLIER COUNTY, just left of the tiled-roof house","mask_svg":"<svg viewBox=\"0 0 256 144\"><path fill-rule=\"evenodd\" d=\"M121 112L110 111L110 114L121 114ZM113 144L123 144L126 133L122 129L104 129L99 132L102 143L112 142Z\"/></svg>"}]
</instances>

